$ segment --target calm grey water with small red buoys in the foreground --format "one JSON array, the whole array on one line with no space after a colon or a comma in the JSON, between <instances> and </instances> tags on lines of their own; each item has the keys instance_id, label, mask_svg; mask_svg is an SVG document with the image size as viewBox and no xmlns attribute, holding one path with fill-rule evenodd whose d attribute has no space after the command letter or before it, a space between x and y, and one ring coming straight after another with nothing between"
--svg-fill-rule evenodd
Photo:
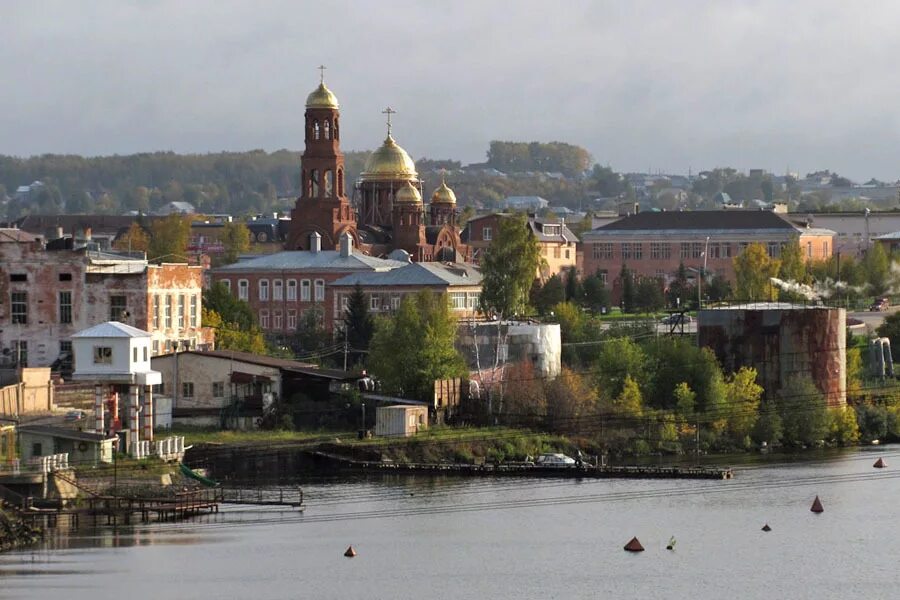
<instances>
[{"instance_id":1,"label":"calm grey water with small red buoys in the foreground","mask_svg":"<svg viewBox=\"0 0 900 600\"><path fill-rule=\"evenodd\" d=\"M872 468L878 456L887 469ZM747 467L731 481L305 485L302 516L234 507L0 555L0 597L896 598L894 464L898 447ZM646 551L624 552L635 535Z\"/></svg>"}]
</instances>

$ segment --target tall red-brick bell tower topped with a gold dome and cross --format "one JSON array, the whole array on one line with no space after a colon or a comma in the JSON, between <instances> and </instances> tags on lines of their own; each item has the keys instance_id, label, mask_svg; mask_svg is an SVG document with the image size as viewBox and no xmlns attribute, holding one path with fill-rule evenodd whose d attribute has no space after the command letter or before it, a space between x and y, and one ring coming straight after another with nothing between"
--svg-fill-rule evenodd
<instances>
[{"instance_id":1,"label":"tall red-brick bell tower topped with a gold dome and cross","mask_svg":"<svg viewBox=\"0 0 900 600\"><path fill-rule=\"evenodd\" d=\"M358 242L356 216L345 192L340 105L325 86L325 67L319 71L319 87L306 98L306 147L300 158L300 197L291 211L288 250L309 250L313 232L322 236L322 249L336 249L345 231Z\"/></svg>"}]
</instances>

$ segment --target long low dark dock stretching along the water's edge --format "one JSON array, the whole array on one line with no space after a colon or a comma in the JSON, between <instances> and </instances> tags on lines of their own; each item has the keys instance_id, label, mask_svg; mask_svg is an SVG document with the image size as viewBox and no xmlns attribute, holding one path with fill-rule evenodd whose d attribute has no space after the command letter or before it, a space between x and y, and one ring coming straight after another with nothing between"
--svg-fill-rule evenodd
<instances>
[{"instance_id":1,"label":"long low dark dock stretching along the water's edge","mask_svg":"<svg viewBox=\"0 0 900 600\"><path fill-rule=\"evenodd\" d=\"M320 458L339 462L344 468L383 473L422 473L434 475L570 477L594 479L732 479L731 467L696 465L592 465L545 466L533 463L398 463L362 461L335 454L316 452Z\"/></svg>"}]
</instances>

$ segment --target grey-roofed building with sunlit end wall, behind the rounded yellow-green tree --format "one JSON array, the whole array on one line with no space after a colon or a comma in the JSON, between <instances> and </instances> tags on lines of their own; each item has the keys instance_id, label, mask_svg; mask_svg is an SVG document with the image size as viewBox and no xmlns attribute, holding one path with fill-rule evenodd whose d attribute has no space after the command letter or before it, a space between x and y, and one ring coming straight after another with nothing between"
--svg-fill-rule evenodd
<instances>
[{"instance_id":1,"label":"grey-roofed building with sunlit end wall, behind the rounded yellow-green tree","mask_svg":"<svg viewBox=\"0 0 900 600\"><path fill-rule=\"evenodd\" d=\"M353 273L326 285L328 329L340 324L357 285L373 314L397 310L405 296L427 289L448 296L453 315L467 319L478 314L481 299L481 273L466 263L410 263L390 271Z\"/></svg>"}]
</instances>

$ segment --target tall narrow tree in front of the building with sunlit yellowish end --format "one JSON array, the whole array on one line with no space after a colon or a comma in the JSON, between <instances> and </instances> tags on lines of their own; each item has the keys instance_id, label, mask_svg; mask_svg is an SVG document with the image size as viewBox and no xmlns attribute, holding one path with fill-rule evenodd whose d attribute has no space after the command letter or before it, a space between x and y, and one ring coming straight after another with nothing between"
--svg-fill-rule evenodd
<instances>
[{"instance_id":1,"label":"tall narrow tree in front of the building with sunlit yellowish end","mask_svg":"<svg viewBox=\"0 0 900 600\"><path fill-rule=\"evenodd\" d=\"M541 249L525 215L506 217L481 262L481 310L501 318L524 314L541 266Z\"/></svg>"}]
</instances>

